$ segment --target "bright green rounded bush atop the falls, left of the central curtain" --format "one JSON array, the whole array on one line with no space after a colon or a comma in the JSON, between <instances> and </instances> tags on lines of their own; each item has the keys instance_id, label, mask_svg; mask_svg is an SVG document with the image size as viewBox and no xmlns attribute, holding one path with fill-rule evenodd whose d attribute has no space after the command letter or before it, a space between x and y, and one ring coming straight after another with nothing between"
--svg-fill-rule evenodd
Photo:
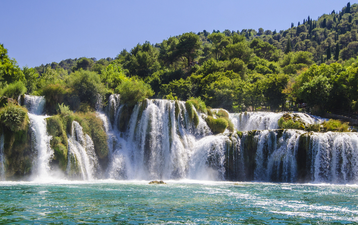
<instances>
[{"instance_id":1,"label":"bright green rounded bush atop the falls, left of the central curtain","mask_svg":"<svg viewBox=\"0 0 358 225\"><path fill-rule=\"evenodd\" d=\"M151 86L141 80L132 79L122 81L122 84L116 88L116 92L121 94L121 103L127 104L129 107L154 94Z\"/></svg>"}]
</instances>

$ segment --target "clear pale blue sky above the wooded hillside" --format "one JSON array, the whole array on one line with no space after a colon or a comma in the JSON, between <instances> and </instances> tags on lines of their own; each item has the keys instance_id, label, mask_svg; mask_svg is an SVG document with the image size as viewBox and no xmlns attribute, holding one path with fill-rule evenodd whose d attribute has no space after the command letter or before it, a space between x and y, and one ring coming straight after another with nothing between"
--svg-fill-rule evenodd
<instances>
[{"instance_id":1,"label":"clear pale blue sky above the wooded hillside","mask_svg":"<svg viewBox=\"0 0 358 225\"><path fill-rule=\"evenodd\" d=\"M285 30L347 0L0 0L0 43L20 67L123 49L185 32ZM351 1L351 5L356 2Z\"/></svg>"}]
</instances>

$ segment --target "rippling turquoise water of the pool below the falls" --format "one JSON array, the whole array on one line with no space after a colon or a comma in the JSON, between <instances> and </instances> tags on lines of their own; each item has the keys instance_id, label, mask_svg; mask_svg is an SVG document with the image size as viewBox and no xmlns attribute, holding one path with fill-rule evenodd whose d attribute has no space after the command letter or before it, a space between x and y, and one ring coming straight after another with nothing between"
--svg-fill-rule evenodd
<instances>
[{"instance_id":1,"label":"rippling turquoise water of the pool below the falls","mask_svg":"<svg viewBox=\"0 0 358 225\"><path fill-rule=\"evenodd\" d=\"M166 182L0 182L0 224L358 223L357 185Z\"/></svg>"}]
</instances>

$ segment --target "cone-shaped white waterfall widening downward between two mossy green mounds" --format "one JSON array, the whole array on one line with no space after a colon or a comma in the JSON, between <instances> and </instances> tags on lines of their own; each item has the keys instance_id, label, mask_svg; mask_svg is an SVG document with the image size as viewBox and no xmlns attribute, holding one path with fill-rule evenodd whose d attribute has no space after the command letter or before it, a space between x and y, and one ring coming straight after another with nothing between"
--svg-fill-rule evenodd
<instances>
[{"instance_id":1,"label":"cone-shaped white waterfall widening downward between two mossy green mounds","mask_svg":"<svg viewBox=\"0 0 358 225\"><path fill-rule=\"evenodd\" d=\"M78 122L72 122L72 132L68 137L68 162L66 173L69 178L93 180L100 167L89 135L84 135Z\"/></svg>"}]
</instances>

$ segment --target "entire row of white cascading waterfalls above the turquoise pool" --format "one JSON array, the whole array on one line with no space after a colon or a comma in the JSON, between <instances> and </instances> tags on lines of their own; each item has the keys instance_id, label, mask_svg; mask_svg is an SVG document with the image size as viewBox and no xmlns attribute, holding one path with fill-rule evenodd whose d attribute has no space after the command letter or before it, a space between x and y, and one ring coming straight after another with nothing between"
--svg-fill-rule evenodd
<instances>
[{"instance_id":1,"label":"entire row of white cascading waterfalls above the turquoise pool","mask_svg":"<svg viewBox=\"0 0 358 225\"><path fill-rule=\"evenodd\" d=\"M43 115L45 99L26 95L23 103L35 156L32 172L38 179L49 179L54 151L46 131L48 116ZM67 135L69 179L358 182L357 133L278 129L279 118L287 112L229 113L239 132L212 135L206 114L193 106L199 118L196 126L182 101L146 99L128 106L121 104L119 94L113 94L105 108L98 96L96 110L107 134L108 158L98 158L91 137L73 121ZM324 120L307 113L288 114L306 124ZM2 180L7 172L5 161L2 135Z\"/></svg>"}]
</instances>

